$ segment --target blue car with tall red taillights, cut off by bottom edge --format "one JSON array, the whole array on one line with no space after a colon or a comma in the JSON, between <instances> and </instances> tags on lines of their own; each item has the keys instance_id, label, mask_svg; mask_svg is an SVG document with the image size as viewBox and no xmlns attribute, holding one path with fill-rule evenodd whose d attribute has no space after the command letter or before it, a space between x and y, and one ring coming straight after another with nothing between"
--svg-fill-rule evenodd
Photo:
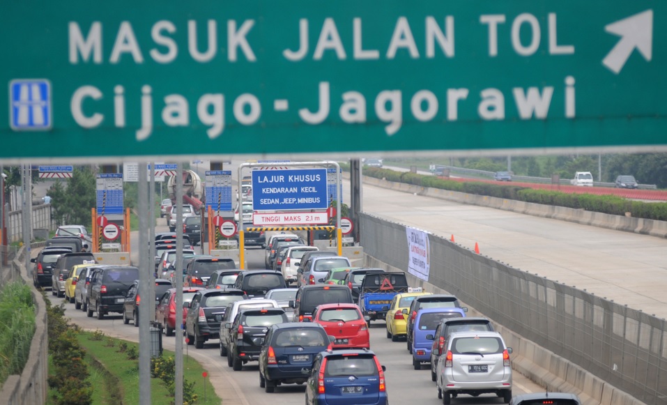
<instances>
[{"instance_id":1,"label":"blue car with tall red taillights, cut off by bottom edge","mask_svg":"<svg viewBox=\"0 0 667 405\"><path fill-rule=\"evenodd\" d=\"M328 350L319 353L308 376L306 404L386 405L385 366L368 349Z\"/></svg>"}]
</instances>

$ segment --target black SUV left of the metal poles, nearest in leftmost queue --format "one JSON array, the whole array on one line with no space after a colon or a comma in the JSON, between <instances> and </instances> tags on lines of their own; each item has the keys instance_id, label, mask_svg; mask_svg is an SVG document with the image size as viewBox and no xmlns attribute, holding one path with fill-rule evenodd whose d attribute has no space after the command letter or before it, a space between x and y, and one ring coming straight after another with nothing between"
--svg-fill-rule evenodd
<instances>
[{"instance_id":1,"label":"black SUV left of the metal poles, nearest in leftmost queue","mask_svg":"<svg viewBox=\"0 0 667 405\"><path fill-rule=\"evenodd\" d=\"M109 312L123 312L125 297L132 282L139 278L139 269L132 266L105 266L93 268L86 301L86 315L97 312L104 319Z\"/></svg>"}]
</instances>

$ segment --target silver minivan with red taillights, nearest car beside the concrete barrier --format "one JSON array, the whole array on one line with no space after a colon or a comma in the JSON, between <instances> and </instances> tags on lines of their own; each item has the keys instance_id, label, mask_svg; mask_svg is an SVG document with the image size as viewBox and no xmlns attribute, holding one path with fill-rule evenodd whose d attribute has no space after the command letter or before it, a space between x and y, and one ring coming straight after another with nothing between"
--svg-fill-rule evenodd
<instances>
[{"instance_id":1,"label":"silver minivan with red taillights, nearest car beside the concrete barrier","mask_svg":"<svg viewBox=\"0 0 667 405\"><path fill-rule=\"evenodd\" d=\"M438 399L450 404L452 397L493 393L505 403L512 399L512 348L498 332L457 332L443 349L438 362Z\"/></svg>"}]
</instances>

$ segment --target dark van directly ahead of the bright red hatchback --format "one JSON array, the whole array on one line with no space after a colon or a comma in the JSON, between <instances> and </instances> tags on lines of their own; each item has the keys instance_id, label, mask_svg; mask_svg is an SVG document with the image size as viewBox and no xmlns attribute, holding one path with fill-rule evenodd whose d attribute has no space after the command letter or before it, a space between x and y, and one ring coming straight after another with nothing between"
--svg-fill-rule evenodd
<instances>
[{"instance_id":1,"label":"dark van directly ahead of the bright red hatchback","mask_svg":"<svg viewBox=\"0 0 667 405\"><path fill-rule=\"evenodd\" d=\"M294 308L294 321L312 321L315 307L322 304L346 303L353 304L352 291L348 286L312 284L300 286L296 298L289 302Z\"/></svg>"}]
</instances>

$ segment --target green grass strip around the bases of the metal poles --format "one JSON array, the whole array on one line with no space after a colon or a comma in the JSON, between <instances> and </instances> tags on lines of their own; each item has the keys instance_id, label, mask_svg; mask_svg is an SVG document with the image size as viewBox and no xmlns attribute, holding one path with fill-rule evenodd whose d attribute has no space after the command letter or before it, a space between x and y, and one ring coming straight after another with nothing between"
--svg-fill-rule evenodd
<instances>
[{"instance_id":1,"label":"green grass strip around the bases of the metal poles","mask_svg":"<svg viewBox=\"0 0 667 405\"><path fill-rule=\"evenodd\" d=\"M102 337L94 340L90 332L79 334L79 344L87 351L86 364L89 365L91 376L89 381L93 386L93 404L118 404L122 400L123 405L139 404L139 362L128 359L127 353L135 347L138 351L139 344L126 342L121 339ZM127 345L128 350L120 352L120 347ZM163 357L174 357L175 353L164 351ZM201 376L206 370L199 365L197 360L189 356L183 356L183 376L186 381L194 382L194 392L197 394L195 404L213 405L221 404L222 400L215 395L213 385L208 379ZM206 384L206 399L204 398L204 384ZM110 395L117 392L114 398ZM160 379L151 379L151 403L169 404L174 398L169 395L167 387ZM47 402L49 404L49 402Z\"/></svg>"}]
</instances>

